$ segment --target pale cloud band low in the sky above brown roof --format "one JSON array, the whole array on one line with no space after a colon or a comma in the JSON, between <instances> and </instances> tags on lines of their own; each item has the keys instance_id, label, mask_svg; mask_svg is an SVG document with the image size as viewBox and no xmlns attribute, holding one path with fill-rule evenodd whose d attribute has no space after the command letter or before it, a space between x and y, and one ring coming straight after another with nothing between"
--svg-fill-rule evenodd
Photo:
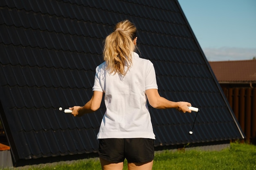
<instances>
[{"instance_id":1,"label":"pale cloud band low in the sky above brown roof","mask_svg":"<svg viewBox=\"0 0 256 170\"><path fill-rule=\"evenodd\" d=\"M249 48L204 48L203 51L208 61L252 60L256 57L256 49Z\"/></svg>"}]
</instances>

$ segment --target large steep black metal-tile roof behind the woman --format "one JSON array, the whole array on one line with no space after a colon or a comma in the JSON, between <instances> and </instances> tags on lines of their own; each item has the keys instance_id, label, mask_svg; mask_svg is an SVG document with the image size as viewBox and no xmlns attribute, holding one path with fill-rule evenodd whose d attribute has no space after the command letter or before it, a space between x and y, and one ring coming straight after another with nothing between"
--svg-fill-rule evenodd
<instances>
[{"instance_id":1,"label":"large steep black metal-tile roof behind the woman","mask_svg":"<svg viewBox=\"0 0 256 170\"><path fill-rule=\"evenodd\" d=\"M189 135L195 113L150 108L156 147L243 137L177 0L2 0L0 13L0 115L14 162L97 152L104 104L84 117L58 108L90 99L103 40L124 19L160 95L201 109Z\"/></svg>"}]
</instances>

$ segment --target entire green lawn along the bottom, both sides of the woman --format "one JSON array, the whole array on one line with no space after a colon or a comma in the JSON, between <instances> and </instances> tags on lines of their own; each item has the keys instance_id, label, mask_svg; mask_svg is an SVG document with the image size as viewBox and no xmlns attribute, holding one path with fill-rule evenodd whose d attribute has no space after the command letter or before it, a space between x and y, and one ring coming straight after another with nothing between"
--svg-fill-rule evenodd
<instances>
[{"instance_id":1,"label":"entire green lawn along the bottom, both sides of the woman","mask_svg":"<svg viewBox=\"0 0 256 170\"><path fill-rule=\"evenodd\" d=\"M5 168L13 170L18 168ZM23 168L24 170L24 168ZM26 170L101 170L94 159L31 166ZM125 161L124 170L127 170ZM153 170L256 170L256 146L231 143L222 151L164 151L155 154Z\"/></svg>"}]
</instances>

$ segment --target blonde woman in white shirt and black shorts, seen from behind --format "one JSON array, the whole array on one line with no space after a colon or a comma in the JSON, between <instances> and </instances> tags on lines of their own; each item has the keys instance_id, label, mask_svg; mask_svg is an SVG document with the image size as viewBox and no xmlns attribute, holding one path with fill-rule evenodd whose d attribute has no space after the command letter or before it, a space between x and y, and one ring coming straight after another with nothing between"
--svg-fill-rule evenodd
<instances>
[{"instance_id":1,"label":"blonde woman in white shirt and black shorts, seen from behind","mask_svg":"<svg viewBox=\"0 0 256 170\"><path fill-rule=\"evenodd\" d=\"M74 116L94 112L105 93L106 113L97 135L103 170L122 170L124 159L129 170L152 169L155 135L147 100L153 108L191 113L190 103L172 102L159 95L152 62L133 52L136 32L128 20L116 24L105 40L105 62L96 68L92 98L83 107L70 108Z\"/></svg>"}]
</instances>

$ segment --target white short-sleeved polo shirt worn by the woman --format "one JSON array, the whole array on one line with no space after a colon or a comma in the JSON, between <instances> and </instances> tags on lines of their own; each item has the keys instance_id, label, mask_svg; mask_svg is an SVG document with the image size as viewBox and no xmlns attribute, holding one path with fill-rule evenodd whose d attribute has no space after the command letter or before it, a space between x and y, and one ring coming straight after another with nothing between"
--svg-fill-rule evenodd
<instances>
[{"instance_id":1,"label":"white short-sleeved polo shirt worn by the woman","mask_svg":"<svg viewBox=\"0 0 256 170\"><path fill-rule=\"evenodd\" d=\"M105 93L106 113L97 138L155 139L146 102L146 90L158 89L153 63L133 53L125 76L109 74L105 68L106 62L97 66L92 88Z\"/></svg>"}]
</instances>

